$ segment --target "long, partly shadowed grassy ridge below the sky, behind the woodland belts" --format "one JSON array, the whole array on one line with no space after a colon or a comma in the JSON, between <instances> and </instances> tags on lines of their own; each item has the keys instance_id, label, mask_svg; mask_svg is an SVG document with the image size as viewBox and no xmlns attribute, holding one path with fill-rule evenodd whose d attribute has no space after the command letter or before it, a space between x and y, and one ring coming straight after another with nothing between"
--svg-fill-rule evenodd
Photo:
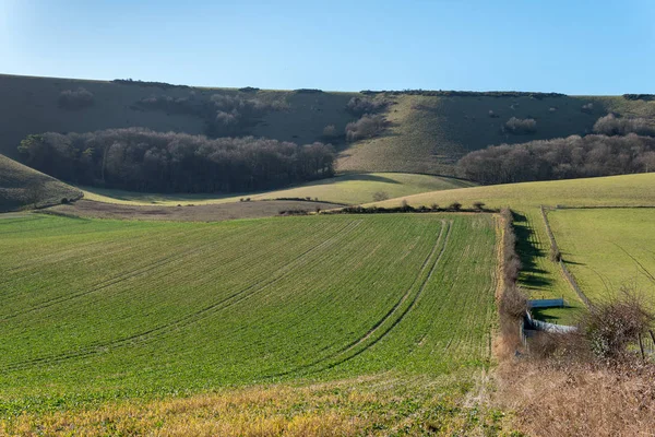
<instances>
[{"instance_id":1,"label":"long, partly shadowed grassy ridge below the sky, behind the woodland belts","mask_svg":"<svg viewBox=\"0 0 655 437\"><path fill-rule=\"evenodd\" d=\"M58 106L61 92L84 87L94 96L92 106L68 110ZM160 87L103 81L0 75L0 120L3 137L0 153L16 156L19 142L29 133L44 131L85 132L107 128L146 127L159 131L203 133L201 117L139 107L150 97L203 99L218 94L257 97L274 104L255 126L242 133L310 143L332 141L340 151L340 172L453 173L452 164L463 154L503 142L584 134L608 111L654 119L655 102L623 97L490 97L378 95L391 105L385 113L391 122L379 138L346 144L343 138L325 139L323 128L334 125L337 134L357 117L345 110L359 93L298 93L294 91L250 91L204 87ZM583 105L593 108L583 111ZM490 113L492 111L492 117ZM534 134L507 134L502 127L511 118L531 117L537 121Z\"/></svg>"}]
</instances>

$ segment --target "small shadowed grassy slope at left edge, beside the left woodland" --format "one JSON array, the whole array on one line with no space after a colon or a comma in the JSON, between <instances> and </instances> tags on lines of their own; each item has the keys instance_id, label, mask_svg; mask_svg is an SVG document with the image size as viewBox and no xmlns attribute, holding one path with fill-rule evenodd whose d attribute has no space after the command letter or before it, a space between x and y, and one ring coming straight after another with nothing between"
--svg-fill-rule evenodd
<instances>
[{"instance_id":1,"label":"small shadowed grassy slope at left edge, beside the left woodland","mask_svg":"<svg viewBox=\"0 0 655 437\"><path fill-rule=\"evenodd\" d=\"M39 187L36 193L27 192L31 186ZM0 212L29 206L35 199L38 204L48 204L81 194L74 187L0 155Z\"/></svg>"}]
</instances>

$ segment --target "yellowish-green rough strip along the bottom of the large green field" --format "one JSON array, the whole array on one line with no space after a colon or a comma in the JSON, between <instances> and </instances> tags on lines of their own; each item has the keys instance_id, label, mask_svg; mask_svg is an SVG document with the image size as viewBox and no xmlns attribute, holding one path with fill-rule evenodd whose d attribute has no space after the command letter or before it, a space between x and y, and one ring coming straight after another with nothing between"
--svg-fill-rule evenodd
<instances>
[{"instance_id":1,"label":"yellowish-green rough strip along the bottom of the large green field","mask_svg":"<svg viewBox=\"0 0 655 437\"><path fill-rule=\"evenodd\" d=\"M454 376L374 376L108 402L0 418L0 436L496 435L502 415L487 408L486 378L467 386L467 395L460 383Z\"/></svg>"}]
</instances>

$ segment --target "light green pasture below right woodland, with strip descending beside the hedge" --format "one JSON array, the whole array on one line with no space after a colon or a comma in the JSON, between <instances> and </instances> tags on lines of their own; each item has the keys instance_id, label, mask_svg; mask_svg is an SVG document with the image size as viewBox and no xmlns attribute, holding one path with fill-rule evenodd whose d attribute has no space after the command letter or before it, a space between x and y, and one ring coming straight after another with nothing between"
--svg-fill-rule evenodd
<instances>
[{"instance_id":1,"label":"light green pasture below right woodland, with strip descending beside the hedge","mask_svg":"<svg viewBox=\"0 0 655 437\"><path fill-rule=\"evenodd\" d=\"M462 188L426 192L404 199L414 206L433 203L448 206L461 202L471 206L485 202L489 208L510 206L517 213L516 233L523 270L521 283L532 298L559 298L571 308L540 310L538 317L569 322L583 303L565 282L557 263L549 260L550 243L539 205L568 206L638 206L655 205L655 173L588 179L553 180ZM376 204L397 206L402 199ZM558 212L559 213L559 212ZM565 212L568 213L568 212Z\"/></svg>"}]
</instances>

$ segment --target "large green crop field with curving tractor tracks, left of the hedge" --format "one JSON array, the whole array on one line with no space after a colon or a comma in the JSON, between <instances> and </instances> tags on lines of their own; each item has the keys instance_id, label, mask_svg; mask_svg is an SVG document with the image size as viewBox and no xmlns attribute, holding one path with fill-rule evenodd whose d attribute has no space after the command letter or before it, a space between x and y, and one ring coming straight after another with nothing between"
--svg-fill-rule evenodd
<instances>
[{"instance_id":1,"label":"large green crop field with curving tractor tracks, left of the hedge","mask_svg":"<svg viewBox=\"0 0 655 437\"><path fill-rule=\"evenodd\" d=\"M0 235L2 416L376 375L456 374L461 399L490 361L488 214L28 214Z\"/></svg>"}]
</instances>

